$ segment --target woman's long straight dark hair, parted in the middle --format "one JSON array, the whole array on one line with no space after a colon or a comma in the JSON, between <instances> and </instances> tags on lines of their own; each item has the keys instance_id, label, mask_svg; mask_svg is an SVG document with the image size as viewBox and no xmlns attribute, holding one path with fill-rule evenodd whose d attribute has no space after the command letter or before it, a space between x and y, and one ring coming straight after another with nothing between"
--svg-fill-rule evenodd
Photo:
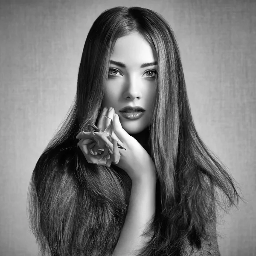
<instances>
[{"instance_id":1,"label":"woman's long straight dark hair, parted in the middle","mask_svg":"<svg viewBox=\"0 0 256 256\"><path fill-rule=\"evenodd\" d=\"M87 163L76 135L90 131L89 119L96 123L114 44L132 32L158 56L148 137L157 171L156 211L148 228L154 235L140 255L179 255L184 239L200 248L210 236L215 205L222 202L228 209L238 203L235 182L195 129L171 27L149 9L115 7L103 12L87 35L76 100L32 174L30 224L43 255L106 256L118 241L131 180L121 169Z\"/></svg>"}]
</instances>

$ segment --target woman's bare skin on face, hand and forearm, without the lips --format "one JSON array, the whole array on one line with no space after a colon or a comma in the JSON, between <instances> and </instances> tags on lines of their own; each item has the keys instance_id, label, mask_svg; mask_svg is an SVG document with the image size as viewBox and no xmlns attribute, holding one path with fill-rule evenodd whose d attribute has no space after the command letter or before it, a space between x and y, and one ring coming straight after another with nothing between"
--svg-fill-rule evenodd
<instances>
[{"instance_id":1,"label":"woman's bare skin on face, hand and forearm, without the lips","mask_svg":"<svg viewBox=\"0 0 256 256\"><path fill-rule=\"evenodd\" d=\"M133 256L151 239L143 232L154 218L157 178L150 155L130 134L139 133L150 124L155 99L157 56L154 49L136 32L116 41L111 60L121 62L125 67L119 66L118 71L114 71L117 66L110 63L103 99L105 108L97 127L104 131L110 122L104 115L111 118L113 137L126 148L119 149L121 157L116 166L131 177L131 197L113 256ZM151 64L141 67L145 63ZM141 106L145 114L137 120L125 119L118 111L127 105Z\"/></svg>"}]
</instances>

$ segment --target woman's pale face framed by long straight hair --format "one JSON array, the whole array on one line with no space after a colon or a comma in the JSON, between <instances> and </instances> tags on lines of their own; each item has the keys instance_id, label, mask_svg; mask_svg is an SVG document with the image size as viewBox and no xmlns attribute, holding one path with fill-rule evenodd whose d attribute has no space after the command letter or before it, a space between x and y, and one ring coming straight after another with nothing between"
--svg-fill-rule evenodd
<instances>
[{"instance_id":1,"label":"woman's pale face framed by long straight hair","mask_svg":"<svg viewBox=\"0 0 256 256\"><path fill-rule=\"evenodd\" d=\"M117 39L111 55L102 107L114 108L128 134L151 122L156 90L157 53L138 32ZM135 107L130 109L125 107ZM137 108L136 108L137 107Z\"/></svg>"}]
</instances>

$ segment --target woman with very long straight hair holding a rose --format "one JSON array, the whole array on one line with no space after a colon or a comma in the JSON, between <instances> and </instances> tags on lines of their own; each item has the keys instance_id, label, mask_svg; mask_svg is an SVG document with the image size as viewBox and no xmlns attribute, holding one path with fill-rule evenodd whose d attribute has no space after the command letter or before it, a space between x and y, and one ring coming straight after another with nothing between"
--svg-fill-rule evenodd
<instances>
[{"instance_id":1,"label":"woman with very long straight hair holding a rose","mask_svg":"<svg viewBox=\"0 0 256 256\"><path fill-rule=\"evenodd\" d=\"M84 44L76 102L32 175L42 253L219 255L215 206L238 199L195 130L168 23L139 7L103 12Z\"/></svg>"}]
</instances>

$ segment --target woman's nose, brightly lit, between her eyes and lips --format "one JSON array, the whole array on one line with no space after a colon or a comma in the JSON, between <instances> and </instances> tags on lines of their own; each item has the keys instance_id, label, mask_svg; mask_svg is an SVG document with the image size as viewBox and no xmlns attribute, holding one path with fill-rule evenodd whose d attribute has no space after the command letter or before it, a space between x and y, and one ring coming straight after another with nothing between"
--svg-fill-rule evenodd
<instances>
[{"instance_id":1,"label":"woman's nose, brightly lit, between her eyes and lips","mask_svg":"<svg viewBox=\"0 0 256 256\"><path fill-rule=\"evenodd\" d=\"M127 79L123 97L126 100L141 99L140 81L135 77Z\"/></svg>"}]
</instances>

